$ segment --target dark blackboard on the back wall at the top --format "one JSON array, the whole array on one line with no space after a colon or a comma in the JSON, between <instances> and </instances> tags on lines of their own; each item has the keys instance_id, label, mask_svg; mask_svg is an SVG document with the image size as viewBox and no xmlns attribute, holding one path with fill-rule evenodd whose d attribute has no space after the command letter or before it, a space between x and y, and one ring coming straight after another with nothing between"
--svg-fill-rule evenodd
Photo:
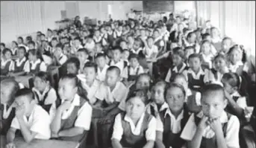
<instances>
[{"instance_id":1,"label":"dark blackboard on the back wall at the top","mask_svg":"<svg viewBox=\"0 0 256 148\"><path fill-rule=\"evenodd\" d=\"M173 12L174 1L143 1L143 13Z\"/></svg>"}]
</instances>

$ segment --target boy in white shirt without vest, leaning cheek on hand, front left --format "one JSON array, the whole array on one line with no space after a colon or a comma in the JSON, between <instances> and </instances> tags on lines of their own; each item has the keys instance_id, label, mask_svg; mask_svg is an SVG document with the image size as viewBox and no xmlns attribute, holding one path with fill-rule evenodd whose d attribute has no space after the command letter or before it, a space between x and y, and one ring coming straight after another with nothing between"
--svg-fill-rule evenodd
<instances>
[{"instance_id":1,"label":"boy in white shirt without vest, leaning cheek on hand, front left","mask_svg":"<svg viewBox=\"0 0 256 148\"><path fill-rule=\"evenodd\" d=\"M15 147L13 140L17 129L21 131L25 142L33 139L49 139L51 137L50 116L34 100L30 89L19 89L14 100L16 111L15 118L7 132L7 147Z\"/></svg>"}]
</instances>

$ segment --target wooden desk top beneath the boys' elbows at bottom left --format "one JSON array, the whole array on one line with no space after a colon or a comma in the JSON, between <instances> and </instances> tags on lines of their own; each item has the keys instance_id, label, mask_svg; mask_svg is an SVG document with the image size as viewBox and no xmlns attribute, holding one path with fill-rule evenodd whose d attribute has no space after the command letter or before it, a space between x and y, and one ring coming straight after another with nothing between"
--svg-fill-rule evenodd
<instances>
[{"instance_id":1,"label":"wooden desk top beneath the boys' elbows at bottom left","mask_svg":"<svg viewBox=\"0 0 256 148\"><path fill-rule=\"evenodd\" d=\"M38 140L34 139L30 144L26 143L22 138L15 138L14 144L16 148L78 148L78 142L74 141L57 141L57 140ZM1 147L5 148L6 137L1 135Z\"/></svg>"}]
</instances>

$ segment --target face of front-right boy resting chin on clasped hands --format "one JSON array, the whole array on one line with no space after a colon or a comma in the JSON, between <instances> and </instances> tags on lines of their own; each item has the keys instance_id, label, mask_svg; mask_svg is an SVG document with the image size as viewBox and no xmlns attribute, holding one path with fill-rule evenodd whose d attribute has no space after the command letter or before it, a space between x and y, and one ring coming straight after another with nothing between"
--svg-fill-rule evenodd
<instances>
[{"instance_id":1,"label":"face of front-right boy resting chin on clasped hands","mask_svg":"<svg viewBox=\"0 0 256 148\"><path fill-rule=\"evenodd\" d=\"M210 119L219 118L224 112L227 101L224 100L222 92L208 92L207 95L202 95L202 111L204 115Z\"/></svg>"}]
</instances>

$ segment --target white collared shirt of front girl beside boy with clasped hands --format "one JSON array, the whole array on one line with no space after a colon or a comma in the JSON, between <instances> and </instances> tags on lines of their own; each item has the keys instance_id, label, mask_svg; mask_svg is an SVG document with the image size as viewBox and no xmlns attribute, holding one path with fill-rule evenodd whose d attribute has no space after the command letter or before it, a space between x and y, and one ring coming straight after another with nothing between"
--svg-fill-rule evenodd
<instances>
[{"instance_id":1,"label":"white collared shirt of front girl beside boy with clasped hands","mask_svg":"<svg viewBox=\"0 0 256 148\"><path fill-rule=\"evenodd\" d=\"M181 132L181 120L184 118L184 111L182 110L181 114L178 115L178 118L176 119L174 115L172 115L171 110L168 108L166 110L166 113L164 115L164 118L166 118L166 115L169 115L170 120L171 120L171 131L174 134L177 134L178 132ZM157 120L160 120L160 118L157 118ZM158 121L157 123L157 131L163 132L163 123Z\"/></svg>"}]
</instances>

